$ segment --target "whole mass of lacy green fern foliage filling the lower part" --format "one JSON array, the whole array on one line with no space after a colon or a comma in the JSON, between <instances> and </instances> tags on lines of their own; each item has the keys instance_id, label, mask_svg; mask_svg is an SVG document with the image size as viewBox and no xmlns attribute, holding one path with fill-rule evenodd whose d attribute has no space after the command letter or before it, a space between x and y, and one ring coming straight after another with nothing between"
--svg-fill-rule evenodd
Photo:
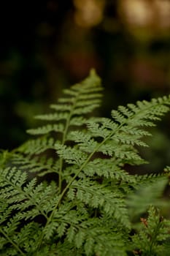
<instances>
[{"instance_id":1,"label":"whole mass of lacy green fern foliage filling the lower part","mask_svg":"<svg viewBox=\"0 0 170 256\"><path fill-rule=\"evenodd\" d=\"M101 90L92 70L63 91L52 113L36 116L47 122L28 130L38 138L1 151L1 255L167 252L169 221L154 207L144 227L134 229L133 218L157 205L169 175L131 175L125 166L146 163L138 148L147 146L146 127L169 111L170 97L119 106L112 118L92 117Z\"/></svg>"}]
</instances>

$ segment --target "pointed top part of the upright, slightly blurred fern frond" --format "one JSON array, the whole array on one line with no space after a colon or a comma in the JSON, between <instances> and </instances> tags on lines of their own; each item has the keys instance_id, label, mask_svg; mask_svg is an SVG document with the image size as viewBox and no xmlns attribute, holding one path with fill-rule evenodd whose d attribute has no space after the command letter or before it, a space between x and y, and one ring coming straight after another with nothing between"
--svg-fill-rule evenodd
<instances>
[{"instance_id":1,"label":"pointed top part of the upright, slightly blurred fern frond","mask_svg":"<svg viewBox=\"0 0 170 256\"><path fill-rule=\"evenodd\" d=\"M77 125L77 121L78 125L85 124L83 115L100 106L101 94L99 91L101 90L100 79L96 72L91 70L89 77L83 80L82 83L72 86L71 89L63 90L63 93L68 94L69 97L58 99L58 104L50 105L55 113L36 116L36 118L44 121L66 121L66 127L63 126L63 123L48 124L46 127L29 129L28 133L42 135L53 131L66 132L65 128L68 129L69 126ZM92 91L93 94L90 94Z\"/></svg>"}]
</instances>

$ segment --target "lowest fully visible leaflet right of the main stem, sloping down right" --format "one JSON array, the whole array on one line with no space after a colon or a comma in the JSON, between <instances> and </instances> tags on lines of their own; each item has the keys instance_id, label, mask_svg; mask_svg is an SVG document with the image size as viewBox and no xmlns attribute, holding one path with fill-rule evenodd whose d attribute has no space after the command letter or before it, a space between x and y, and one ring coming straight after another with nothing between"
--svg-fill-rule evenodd
<instances>
[{"instance_id":1,"label":"lowest fully visible leaflet right of the main stem, sloping down right","mask_svg":"<svg viewBox=\"0 0 170 256\"><path fill-rule=\"evenodd\" d=\"M105 185L102 186L98 182L90 181L90 178L83 178L82 181L74 181L70 190L71 195L74 195L80 202L92 208L99 208L101 213L117 219L126 227L129 226L125 196L119 189L108 189ZM123 213L123 219L120 213Z\"/></svg>"}]
</instances>

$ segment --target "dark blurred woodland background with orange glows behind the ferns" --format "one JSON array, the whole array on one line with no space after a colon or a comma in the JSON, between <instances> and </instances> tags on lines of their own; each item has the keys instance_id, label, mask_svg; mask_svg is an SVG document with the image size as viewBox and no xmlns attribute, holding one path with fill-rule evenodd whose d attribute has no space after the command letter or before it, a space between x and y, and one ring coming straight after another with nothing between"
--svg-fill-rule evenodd
<instances>
[{"instance_id":1,"label":"dark blurred woodland background with orange glows behind the ferns","mask_svg":"<svg viewBox=\"0 0 170 256\"><path fill-rule=\"evenodd\" d=\"M33 116L92 67L104 85L100 116L170 94L169 0L4 1L0 12L0 148L23 143ZM170 115L152 129L150 170L170 165L169 129Z\"/></svg>"}]
</instances>

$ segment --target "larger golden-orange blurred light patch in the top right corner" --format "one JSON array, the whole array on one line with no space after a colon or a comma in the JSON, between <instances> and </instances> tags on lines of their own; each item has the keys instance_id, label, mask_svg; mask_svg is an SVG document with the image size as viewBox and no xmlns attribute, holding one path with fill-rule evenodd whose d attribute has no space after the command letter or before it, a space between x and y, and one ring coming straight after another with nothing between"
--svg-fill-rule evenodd
<instances>
[{"instance_id":1,"label":"larger golden-orange blurred light patch in the top right corner","mask_svg":"<svg viewBox=\"0 0 170 256\"><path fill-rule=\"evenodd\" d=\"M119 8L121 17L128 26L170 28L169 0L121 0Z\"/></svg>"}]
</instances>

